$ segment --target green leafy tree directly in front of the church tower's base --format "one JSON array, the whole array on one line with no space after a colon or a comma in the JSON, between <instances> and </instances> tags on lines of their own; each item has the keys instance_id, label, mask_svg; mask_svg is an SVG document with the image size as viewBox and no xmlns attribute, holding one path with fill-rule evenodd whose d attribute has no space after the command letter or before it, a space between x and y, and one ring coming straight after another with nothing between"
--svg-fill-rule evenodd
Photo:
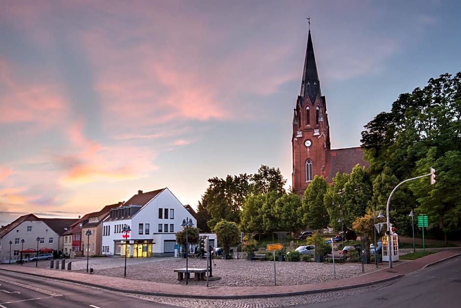
<instances>
[{"instance_id":1,"label":"green leafy tree directly in front of the church tower's base","mask_svg":"<svg viewBox=\"0 0 461 308\"><path fill-rule=\"evenodd\" d=\"M318 175L314 176L304 192L303 203L298 210L300 225L313 229L323 229L328 226L330 218L324 205L327 189L328 183L325 178Z\"/></svg>"}]
</instances>

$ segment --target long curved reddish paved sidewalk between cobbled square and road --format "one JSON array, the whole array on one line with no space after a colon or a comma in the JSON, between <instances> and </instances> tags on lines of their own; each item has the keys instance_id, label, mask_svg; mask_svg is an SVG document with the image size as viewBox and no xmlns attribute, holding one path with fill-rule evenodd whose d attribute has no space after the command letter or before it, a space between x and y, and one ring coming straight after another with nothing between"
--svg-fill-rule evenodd
<instances>
[{"instance_id":1,"label":"long curved reddish paved sidewalk between cobbled square and road","mask_svg":"<svg viewBox=\"0 0 461 308\"><path fill-rule=\"evenodd\" d=\"M82 274L66 270L43 269L1 264L0 270L22 272L29 275L53 278L63 281L79 282L86 285L102 287L109 290L148 294L156 296L193 297L213 299L235 299L254 297L291 296L307 293L319 293L357 286L380 283L396 279L417 270L431 266L438 262L461 255L461 249L452 249L437 252L423 258L405 263L395 262L390 269L384 264L381 270L353 279L335 280L323 283L280 285L280 286L253 286L253 287L204 287L185 284L170 284L144 280L128 280L118 277L107 277L93 274Z\"/></svg>"}]
</instances>

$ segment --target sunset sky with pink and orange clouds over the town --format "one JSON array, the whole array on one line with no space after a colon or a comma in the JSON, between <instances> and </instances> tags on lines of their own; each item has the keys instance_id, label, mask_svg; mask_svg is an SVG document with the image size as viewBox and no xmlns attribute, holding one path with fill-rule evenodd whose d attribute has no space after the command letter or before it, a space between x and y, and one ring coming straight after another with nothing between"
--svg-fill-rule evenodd
<instances>
[{"instance_id":1,"label":"sunset sky with pink and orange clouds over the town","mask_svg":"<svg viewBox=\"0 0 461 308\"><path fill-rule=\"evenodd\" d=\"M332 148L461 70L457 0L0 0L0 225L280 168L307 17Z\"/></svg>"}]
</instances>

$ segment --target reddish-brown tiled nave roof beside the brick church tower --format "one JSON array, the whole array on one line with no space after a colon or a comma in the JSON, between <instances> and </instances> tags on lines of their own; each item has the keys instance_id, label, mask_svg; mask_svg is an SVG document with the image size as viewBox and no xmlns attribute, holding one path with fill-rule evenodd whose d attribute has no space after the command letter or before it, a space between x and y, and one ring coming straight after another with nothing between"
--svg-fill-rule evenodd
<instances>
[{"instance_id":1,"label":"reddish-brown tiled nave roof beside the brick church tower","mask_svg":"<svg viewBox=\"0 0 461 308\"><path fill-rule=\"evenodd\" d=\"M351 173L352 168L357 164L368 168L370 165L363 160L363 149L361 147L349 147L344 149L332 149L328 153L329 169L327 171L327 182L332 183L336 173Z\"/></svg>"}]
</instances>

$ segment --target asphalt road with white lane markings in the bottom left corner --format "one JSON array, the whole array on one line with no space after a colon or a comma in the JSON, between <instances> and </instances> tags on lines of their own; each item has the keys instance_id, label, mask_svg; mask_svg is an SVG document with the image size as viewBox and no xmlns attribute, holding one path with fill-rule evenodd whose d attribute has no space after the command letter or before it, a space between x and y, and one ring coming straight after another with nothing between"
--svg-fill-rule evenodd
<instances>
[{"instance_id":1,"label":"asphalt road with white lane markings in the bottom left corner","mask_svg":"<svg viewBox=\"0 0 461 308\"><path fill-rule=\"evenodd\" d=\"M0 308L165 306L168 305L76 283L36 278L18 273L2 273L0 276Z\"/></svg>"}]
</instances>

